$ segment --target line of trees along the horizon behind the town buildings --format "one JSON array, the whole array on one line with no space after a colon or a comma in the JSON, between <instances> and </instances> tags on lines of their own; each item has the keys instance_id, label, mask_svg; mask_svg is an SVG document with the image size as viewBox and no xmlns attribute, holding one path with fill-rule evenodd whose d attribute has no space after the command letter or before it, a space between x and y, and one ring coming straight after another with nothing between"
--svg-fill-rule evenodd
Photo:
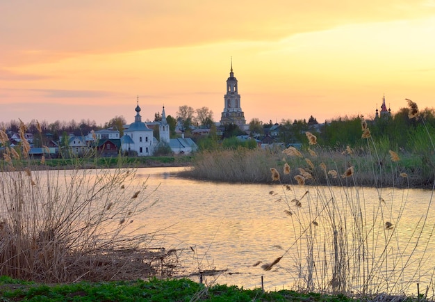
<instances>
[{"instance_id":1,"label":"line of trees along the horizon behind the town buildings","mask_svg":"<svg viewBox=\"0 0 435 302\"><path fill-rule=\"evenodd\" d=\"M435 129L435 111L434 109L424 109L420 111L420 120L409 118L409 108L402 108L397 113L391 116L384 116L380 118L372 118L368 120L368 127L372 137L381 141L383 145L388 145L391 150L416 150L416 148L423 148L422 145L427 141L427 131L433 134ZM350 145L353 148L363 147L365 143L361 139L361 120L362 116L354 117L340 117L334 120L325 121L319 124L316 118L310 116L308 120L281 120L279 123L263 122L258 118L250 120L249 136L253 138L262 138L270 134L272 127L278 127L277 136L274 140L277 143L284 143L285 145L291 143L304 143L306 141L305 132L311 132L318 138L318 145L328 148L343 148ZM211 139L195 138L196 140L203 140L201 145L215 145L216 142L223 138L231 138L241 134L247 135L242 129L236 125L225 125L222 127L222 136L217 137L215 121L213 120L213 111L208 107L203 106L199 109L193 109L191 106L179 106L179 110L175 117L167 116L166 120L170 125L171 136L174 137L176 126L185 133L186 136L191 136L190 130L194 127L211 128L209 136ZM421 120L425 121L423 127ZM149 120L148 120L149 121ZM154 114L153 122L161 121L161 113ZM104 125L97 125L95 120L80 120L76 122L71 120L69 122L57 120L56 122L40 121L40 128L43 134L50 134L50 136L57 141L60 136L67 134L74 134L76 136L86 135L91 130L99 129L117 129L120 131L120 136L123 135L124 125L126 119L123 116L115 116ZM11 132L18 132L20 125L19 120L10 120L10 122L0 122L0 128ZM35 134L36 120L28 123L28 132ZM154 135L158 137L158 127L155 127ZM205 148L205 147L204 147ZM387 147L386 147L387 148Z\"/></svg>"}]
</instances>

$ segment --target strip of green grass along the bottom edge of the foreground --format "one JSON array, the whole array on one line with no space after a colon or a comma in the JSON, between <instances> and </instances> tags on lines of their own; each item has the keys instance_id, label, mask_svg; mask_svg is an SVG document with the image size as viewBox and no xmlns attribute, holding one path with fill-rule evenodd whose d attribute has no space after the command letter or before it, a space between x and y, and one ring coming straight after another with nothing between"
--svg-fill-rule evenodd
<instances>
[{"instance_id":1,"label":"strip of green grass along the bottom edge of the foreground","mask_svg":"<svg viewBox=\"0 0 435 302\"><path fill-rule=\"evenodd\" d=\"M352 301L342 295L206 287L189 279L44 285L0 278L0 301Z\"/></svg>"}]
</instances>

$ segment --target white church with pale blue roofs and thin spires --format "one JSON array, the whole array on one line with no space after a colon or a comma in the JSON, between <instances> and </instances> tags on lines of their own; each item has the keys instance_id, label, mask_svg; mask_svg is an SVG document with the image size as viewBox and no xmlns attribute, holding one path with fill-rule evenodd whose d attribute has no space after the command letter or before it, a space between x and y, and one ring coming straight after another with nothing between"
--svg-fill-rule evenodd
<instances>
[{"instance_id":1,"label":"white church with pale blue roofs and thin spires","mask_svg":"<svg viewBox=\"0 0 435 302\"><path fill-rule=\"evenodd\" d=\"M158 124L159 139L153 136L153 130L149 129L140 116L139 98L136 106L134 122L124 126L124 136L121 138L122 151L136 152L138 156L145 157L154 154L159 145L167 144L174 154L189 154L198 149L192 138L170 138L170 125L166 120L165 106L162 110L162 120Z\"/></svg>"}]
</instances>

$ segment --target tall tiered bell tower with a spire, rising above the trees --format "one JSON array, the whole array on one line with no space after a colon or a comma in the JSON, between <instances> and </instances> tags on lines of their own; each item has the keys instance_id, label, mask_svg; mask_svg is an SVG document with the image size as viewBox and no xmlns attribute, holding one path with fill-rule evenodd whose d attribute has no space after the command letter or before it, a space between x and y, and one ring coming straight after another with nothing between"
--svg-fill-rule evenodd
<instances>
[{"instance_id":1,"label":"tall tiered bell tower with a spire, rising above the trees","mask_svg":"<svg viewBox=\"0 0 435 302\"><path fill-rule=\"evenodd\" d=\"M220 118L220 125L235 124L243 127L246 124L245 114L240 106L240 95L238 94L237 79L234 77L233 60L231 59L231 71L227 79L227 94L224 95L224 111Z\"/></svg>"}]
</instances>

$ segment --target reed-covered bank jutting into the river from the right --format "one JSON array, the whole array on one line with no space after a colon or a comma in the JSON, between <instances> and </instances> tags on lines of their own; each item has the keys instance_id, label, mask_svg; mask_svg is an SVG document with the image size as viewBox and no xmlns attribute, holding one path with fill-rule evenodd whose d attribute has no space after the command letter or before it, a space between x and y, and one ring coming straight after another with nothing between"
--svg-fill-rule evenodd
<instances>
[{"instance_id":1,"label":"reed-covered bank jutting into the river from the right","mask_svg":"<svg viewBox=\"0 0 435 302\"><path fill-rule=\"evenodd\" d=\"M313 148L314 149L314 148ZM215 150L201 152L192 159L190 170L181 177L213 182L262 184L304 184L327 186L367 186L433 189L434 158L415 154L375 155L350 150L307 150L286 154L281 150ZM284 167L288 165L285 172ZM352 173L350 172L352 167ZM278 177L272 177L275 168Z\"/></svg>"}]
</instances>

